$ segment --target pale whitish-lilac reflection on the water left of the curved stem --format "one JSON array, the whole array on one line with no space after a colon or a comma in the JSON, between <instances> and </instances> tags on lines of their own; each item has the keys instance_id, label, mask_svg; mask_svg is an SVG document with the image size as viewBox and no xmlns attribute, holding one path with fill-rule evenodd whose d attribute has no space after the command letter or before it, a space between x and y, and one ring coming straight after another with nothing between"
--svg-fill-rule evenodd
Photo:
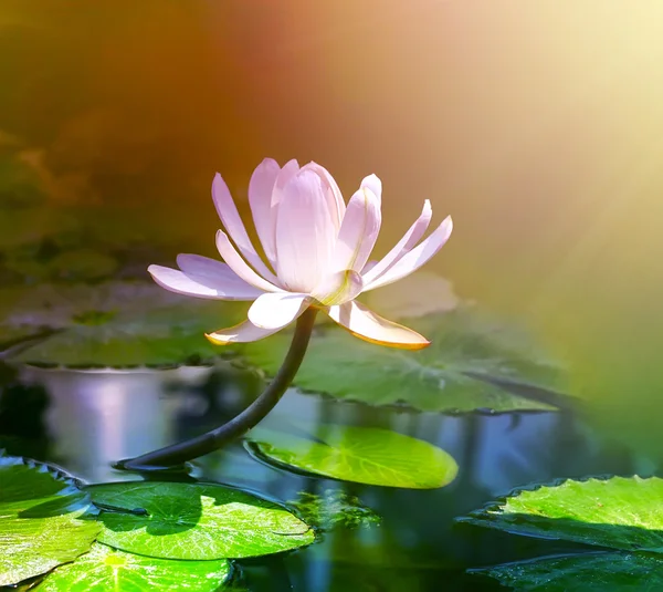
<instances>
[{"instance_id":1,"label":"pale whitish-lilac reflection on the water left of the curved stem","mask_svg":"<svg viewBox=\"0 0 663 592\"><path fill-rule=\"evenodd\" d=\"M204 371L200 371L204 372ZM112 463L164 446L175 437L179 402L166 385L191 368L172 371L30 370L27 380L43 384L51 397L48 424L52 456L84 479L117 480Z\"/></svg>"}]
</instances>

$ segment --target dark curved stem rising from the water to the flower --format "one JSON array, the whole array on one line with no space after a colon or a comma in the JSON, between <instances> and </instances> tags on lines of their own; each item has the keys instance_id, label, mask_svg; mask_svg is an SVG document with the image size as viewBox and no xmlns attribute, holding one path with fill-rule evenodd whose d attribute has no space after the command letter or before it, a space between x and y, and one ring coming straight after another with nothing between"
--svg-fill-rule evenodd
<instances>
[{"instance_id":1,"label":"dark curved stem rising from the water to the flower","mask_svg":"<svg viewBox=\"0 0 663 592\"><path fill-rule=\"evenodd\" d=\"M309 308L299 316L290 350L276 376L265 391L240 415L207 434L159 448L136 458L120 460L115 467L140 471L173 468L199 456L213 453L246 434L274 408L295 377L302 360L304 360L316 314L317 309Z\"/></svg>"}]
</instances>

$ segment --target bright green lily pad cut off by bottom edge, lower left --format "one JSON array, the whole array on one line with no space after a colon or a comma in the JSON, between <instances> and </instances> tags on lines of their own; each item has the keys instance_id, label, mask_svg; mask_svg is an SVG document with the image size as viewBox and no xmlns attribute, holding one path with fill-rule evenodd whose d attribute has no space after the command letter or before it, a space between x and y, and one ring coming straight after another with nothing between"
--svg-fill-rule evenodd
<instances>
[{"instance_id":1,"label":"bright green lily pad cut off by bottom edge, lower left","mask_svg":"<svg viewBox=\"0 0 663 592\"><path fill-rule=\"evenodd\" d=\"M34 590L39 592L214 592L230 574L225 559L178 561L117 551L95 543L73 563L62 565Z\"/></svg>"}]
</instances>

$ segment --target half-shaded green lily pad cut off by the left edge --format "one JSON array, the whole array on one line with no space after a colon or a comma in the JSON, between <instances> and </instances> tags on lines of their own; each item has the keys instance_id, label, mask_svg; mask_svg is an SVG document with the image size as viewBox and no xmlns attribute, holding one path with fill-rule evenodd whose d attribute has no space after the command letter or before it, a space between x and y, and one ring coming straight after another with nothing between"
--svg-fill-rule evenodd
<instances>
[{"instance_id":1,"label":"half-shaded green lily pad cut off by the left edge","mask_svg":"<svg viewBox=\"0 0 663 592\"><path fill-rule=\"evenodd\" d=\"M42 464L0 456L0 585L73 561L101 530L90 496Z\"/></svg>"}]
</instances>

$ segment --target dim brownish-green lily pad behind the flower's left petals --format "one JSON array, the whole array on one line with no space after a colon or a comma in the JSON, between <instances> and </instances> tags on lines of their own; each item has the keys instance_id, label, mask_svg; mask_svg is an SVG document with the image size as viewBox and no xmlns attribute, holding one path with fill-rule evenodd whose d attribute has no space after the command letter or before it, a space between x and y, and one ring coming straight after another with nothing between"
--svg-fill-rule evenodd
<instances>
[{"instance_id":1,"label":"dim brownish-green lily pad behind the flower's left petals","mask_svg":"<svg viewBox=\"0 0 663 592\"><path fill-rule=\"evenodd\" d=\"M230 352L209 343L204 333L244 315L235 303L187 298L151 282L0 290L0 334L60 330L13 359L29 364L196 364Z\"/></svg>"}]
</instances>

